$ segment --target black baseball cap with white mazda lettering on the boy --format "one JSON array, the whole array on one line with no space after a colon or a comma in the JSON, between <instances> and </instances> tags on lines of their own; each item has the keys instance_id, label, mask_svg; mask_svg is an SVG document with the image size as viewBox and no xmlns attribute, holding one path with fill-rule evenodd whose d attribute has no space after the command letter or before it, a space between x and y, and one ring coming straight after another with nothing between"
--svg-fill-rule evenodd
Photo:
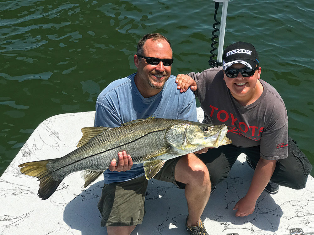
<instances>
[{"instance_id":1,"label":"black baseball cap with white mazda lettering on the boy","mask_svg":"<svg viewBox=\"0 0 314 235\"><path fill-rule=\"evenodd\" d=\"M241 63L250 69L258 65L258 55L255 47L248 42L236 42L227 46L223 54L223 69L233 64Z\"/></svg>"}]
</instances>

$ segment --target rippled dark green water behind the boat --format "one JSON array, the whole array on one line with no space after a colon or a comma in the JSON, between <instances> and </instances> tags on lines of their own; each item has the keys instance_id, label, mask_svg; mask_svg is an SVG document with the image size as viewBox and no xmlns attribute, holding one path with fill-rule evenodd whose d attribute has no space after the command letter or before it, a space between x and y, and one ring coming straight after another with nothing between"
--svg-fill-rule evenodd
<instances>
[{"instance_id":1,"label":"rippled dark green water behind the boat","mask_svg":"<svg viewBox=\"0 0 314 235\"><path fill-rule=\"evenodd\" d=\"M1 0L0 175L42 121L95 110L103 88L133 73L144 34L171 40L173 75L208 68L213 17L211 0ZM312 164L313 25L310 0L231 0L225 35L225 45L255 45L262 79L284 99L289 134Z\"/></svg>"}]
</instances>

